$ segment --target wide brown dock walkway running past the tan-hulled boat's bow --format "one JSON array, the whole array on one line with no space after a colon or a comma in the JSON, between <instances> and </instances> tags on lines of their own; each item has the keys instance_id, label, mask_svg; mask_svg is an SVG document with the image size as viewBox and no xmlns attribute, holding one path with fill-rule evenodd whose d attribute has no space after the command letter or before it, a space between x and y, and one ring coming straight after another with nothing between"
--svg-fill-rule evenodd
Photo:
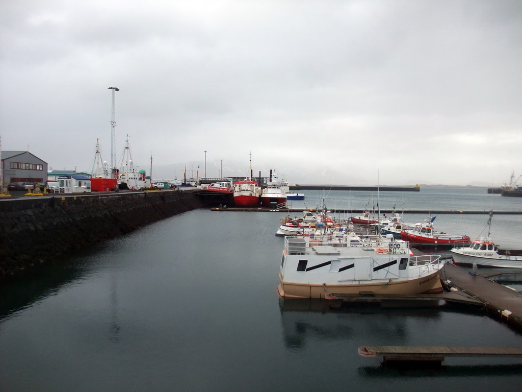
<instances>
[{"instance_id":1,"label":"wide brown dock walkway running past the tan-hulled boat's bow","mask_svg":"<svg viewBox=\"0 0 522 392\"><path fill-rule=\"evenodd\" d=\"M522 329L522 295L520 293L479 274L473 275L470 271L453 264L445 264L442 273L450 286L484 302L490 315L502 318L507 321L507 324Z\"/></svg>"}]
</instances>

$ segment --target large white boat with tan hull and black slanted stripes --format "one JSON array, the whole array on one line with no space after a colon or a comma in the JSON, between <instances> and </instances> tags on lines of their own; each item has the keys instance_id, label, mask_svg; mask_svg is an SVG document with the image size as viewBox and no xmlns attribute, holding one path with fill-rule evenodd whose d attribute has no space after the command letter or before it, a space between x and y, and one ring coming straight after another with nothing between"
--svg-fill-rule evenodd
<instances>
[{"instance_id":1,"label":"large white boat with tan hull and black slanted stripes","mask_svg":"<svg viewBox=\"0 0 522 392\"><path fill-rule=\"evenodd\" d=\"M441 293L440 255L411 256L406 241L353 233L285 237L279 272L283 298Z\"/></svg>"}]
</instances>

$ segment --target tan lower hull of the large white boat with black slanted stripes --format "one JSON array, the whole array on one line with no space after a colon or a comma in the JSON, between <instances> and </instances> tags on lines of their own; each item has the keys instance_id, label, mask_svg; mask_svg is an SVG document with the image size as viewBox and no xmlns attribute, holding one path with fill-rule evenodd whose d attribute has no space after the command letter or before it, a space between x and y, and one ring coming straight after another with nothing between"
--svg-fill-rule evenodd
<instances>
[{"instance_id":1,"label":"tan lower hull of the large white boat with black slanted stripes","mask_svg":"<svg viewBox=\"0 0 522 392\"><path fill-rule=\"evenodd\" d=\"M325 298L325 295L360 295L361 292L394 295L439 294L443 292L440 274L441 271L438 270L417 279L334 285L285 282L279 273L277 290L282 298Z\"/></svg>"}]
</instances>

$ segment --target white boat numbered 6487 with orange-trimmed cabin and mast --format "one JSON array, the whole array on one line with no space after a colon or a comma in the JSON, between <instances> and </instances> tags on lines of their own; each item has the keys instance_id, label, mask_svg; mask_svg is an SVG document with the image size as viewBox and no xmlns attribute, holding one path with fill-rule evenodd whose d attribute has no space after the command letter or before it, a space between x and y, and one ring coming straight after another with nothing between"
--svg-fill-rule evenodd
<instances>
[{"instance_id":1,"label":"white boat numbered 6487 with orange-trimmed cabin and mast","mask_svg":"<svg viewBox=\"0 0 522 392\"><path fill-rule=\"evenodd\" d=\"M501 249L490 237L491 217L488 220L488 236L480 237L469 246L450 249L456 264L477 267L522 268L522 250Z\"/></svg>"}]
</instances>

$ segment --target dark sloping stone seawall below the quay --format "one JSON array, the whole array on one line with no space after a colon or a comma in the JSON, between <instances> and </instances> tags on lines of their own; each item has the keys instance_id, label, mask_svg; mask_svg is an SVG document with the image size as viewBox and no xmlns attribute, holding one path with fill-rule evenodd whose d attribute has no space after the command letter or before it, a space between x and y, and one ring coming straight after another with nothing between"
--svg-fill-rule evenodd
<instances>
[{"instance_id":1,"label":"dark sloping stone seawall below the quay","mask_svg":"<svg viewBox=\"0 0 522 392\"><path fill-rule=\"evenodd\" d=\"M192 192L174 190L4 200L0 202L0 280L201 207Z\"/></svg>"}]
</instances>

